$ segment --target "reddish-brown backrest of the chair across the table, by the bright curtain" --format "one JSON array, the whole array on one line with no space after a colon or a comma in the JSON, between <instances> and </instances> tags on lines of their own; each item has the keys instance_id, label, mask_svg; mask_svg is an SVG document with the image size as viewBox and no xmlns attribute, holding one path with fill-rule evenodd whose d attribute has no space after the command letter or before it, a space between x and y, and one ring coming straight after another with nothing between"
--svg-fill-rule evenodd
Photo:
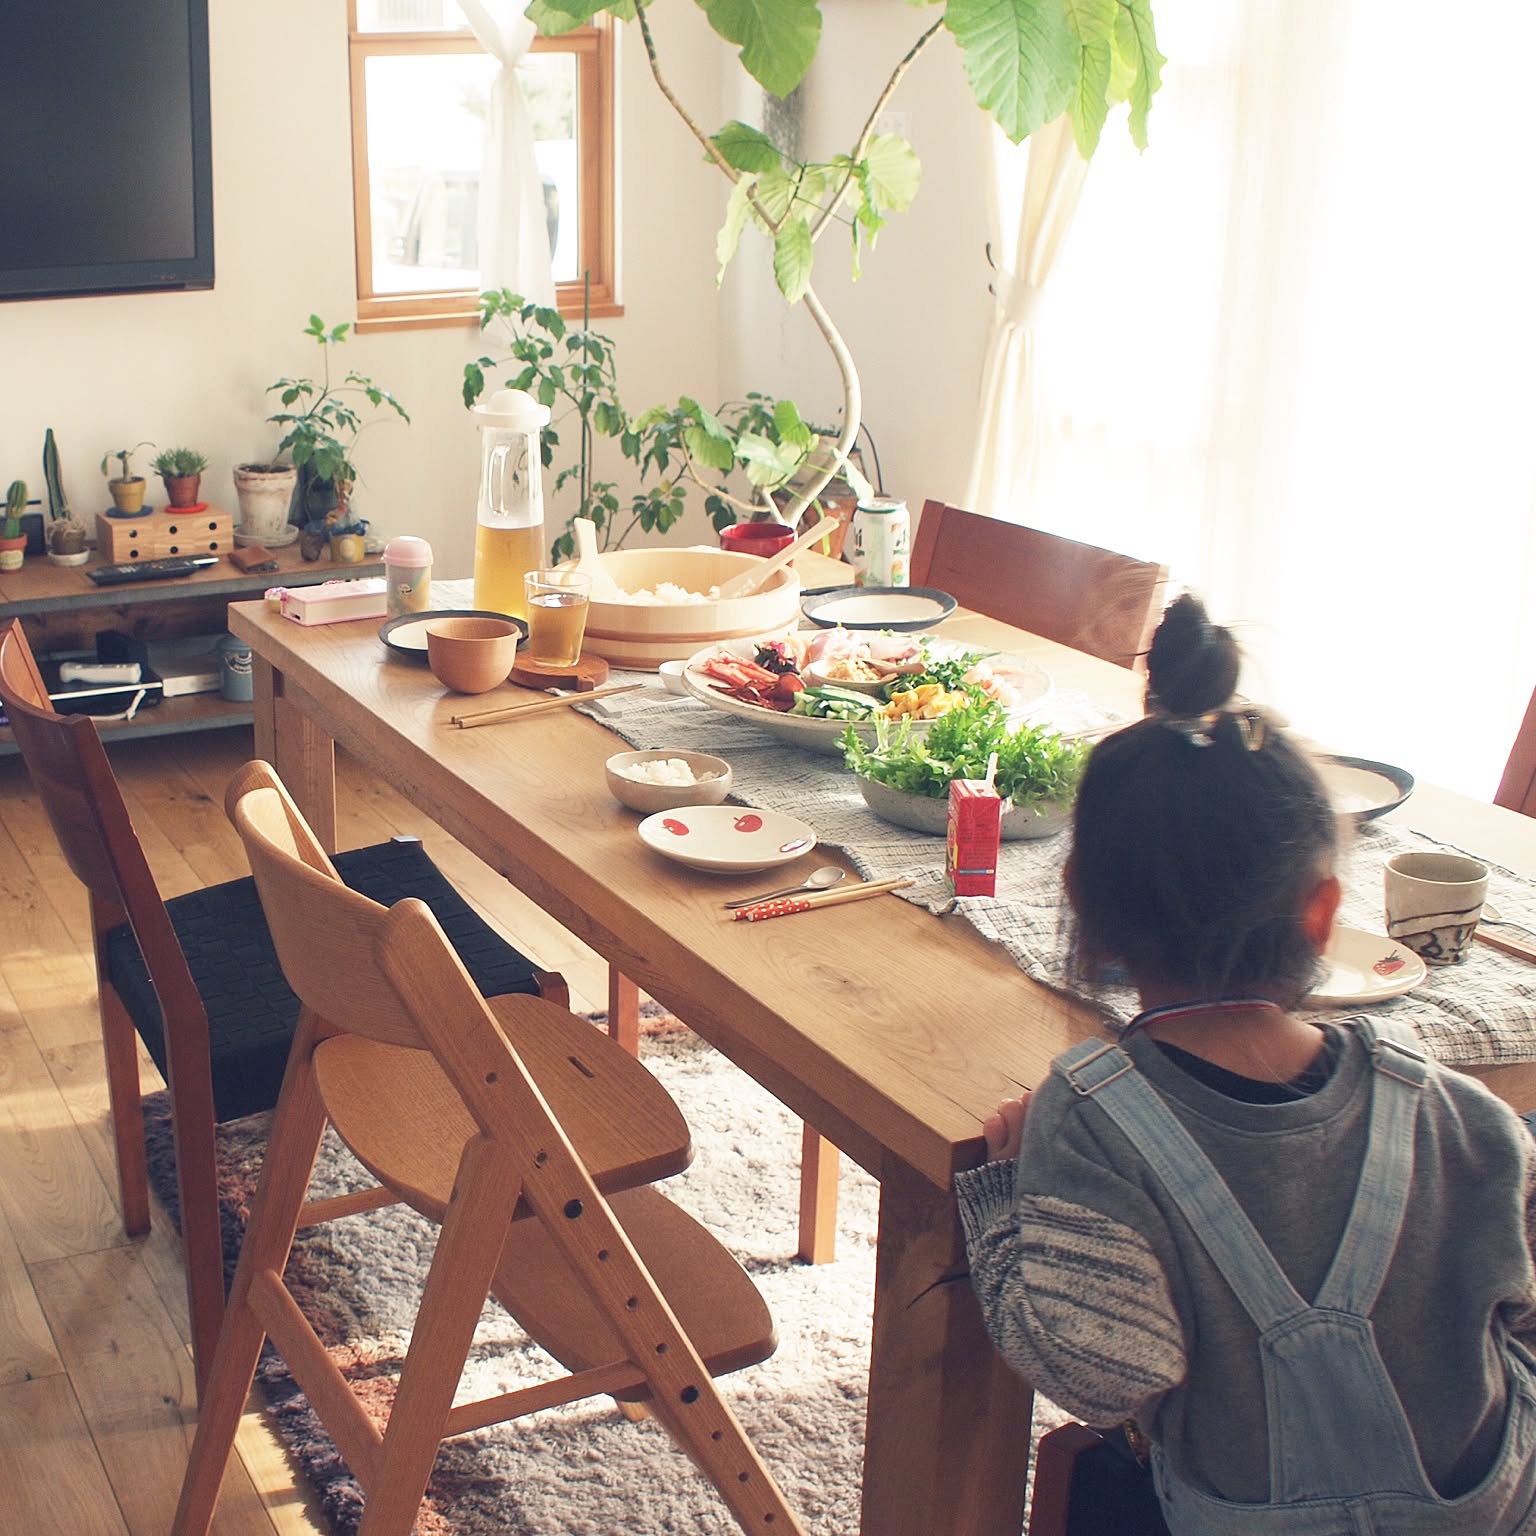
<instances>
[{"instance_id":1,"label":"reddish-brown backrest of the chair across the table, by the bright curtain","mask_svg":"<svg viewBox=\"0 0 1536 1536\"><path fill-rule=\"evenodd\" d=\"M912 585L1103 660L1146 668L1167 567L1038 528L923 502Z\"/></svg>"}]
</instances>

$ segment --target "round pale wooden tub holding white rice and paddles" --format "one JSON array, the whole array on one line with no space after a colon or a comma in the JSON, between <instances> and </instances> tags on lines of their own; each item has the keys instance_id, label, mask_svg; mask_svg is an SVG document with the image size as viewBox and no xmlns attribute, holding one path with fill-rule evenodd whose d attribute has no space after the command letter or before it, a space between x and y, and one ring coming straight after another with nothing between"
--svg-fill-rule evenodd
<instances>
[{"instance_id":1,"label":"round pale wooden tub holding white rice and paddles","mask_svg":"<svg viewBox=\"0 0 1536 1536\"><path fill-rule=\"evenodd\" d=\"M756 554L728 550L616 550L604 568L625 591L673 582L707 593L759 564ZM768 578L762 591L730 602L636 604L599 602L587 611L582 648L617 667L656 671L662 662L687 660L711 641L771 634L799 624L800 579L793 570Z\"/></svg>"}]
</instances>

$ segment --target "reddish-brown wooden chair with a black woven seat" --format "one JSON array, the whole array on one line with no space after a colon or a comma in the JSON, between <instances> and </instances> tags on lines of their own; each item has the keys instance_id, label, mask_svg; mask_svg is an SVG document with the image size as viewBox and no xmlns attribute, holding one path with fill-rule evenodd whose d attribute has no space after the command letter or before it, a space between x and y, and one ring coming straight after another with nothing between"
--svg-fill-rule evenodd
<instances>
[{"instance_id":1,"label":"reddish-brown wooden chair with a black woven seat","mask_svg":"<svg viewBox=\"0 0 1536 1536\"><path fill-rule=\"evenodd\" d=\"M91 899L112 1135L131 1236L149 1230L135 1032L170 1091L201 1387L224 1307L214 1126L276 1103L298 998L283 980L249 877L161 899L95 722L49 707L20 621L0 627L0 702L65 859ZM490 928L416 839L339 854L336 871L375 900L424 900L487 995L567 1000L562 978L538 971ZM316 932L312 942L324 951L327 940ZM352 1209L366 1209L366 1198L355 1198Z\"/></svg>"}]
</instances>

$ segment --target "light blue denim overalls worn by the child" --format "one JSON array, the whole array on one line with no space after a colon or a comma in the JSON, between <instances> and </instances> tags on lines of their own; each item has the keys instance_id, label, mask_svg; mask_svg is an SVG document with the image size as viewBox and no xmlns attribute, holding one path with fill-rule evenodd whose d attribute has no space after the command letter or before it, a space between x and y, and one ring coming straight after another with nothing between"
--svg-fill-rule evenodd
<instances>
[{"instance_id":1,"label":"light blue denim overalls worn by the child","mask_svg":"<svg viewBox=\"0 0 1536 1536\"><path fill-rule=\"evenodd\" d=\"M1413 1178L1425 1063L1412 1037L1356 1020L1370 1049L1370 1124L1344 1238L1309 1306L1232 1192L1120 1048L1084 1041L1057 1061L1146 1158L1260 1332L1269 1502L1235 1504L1183 1481L1152 1450L1175 1536L1513 1536L1536 1531L1536 1372L1513 1344L1504 1444L1479 1487L1442 1499L1370 1326ZM1390 1029L1390 1034L1389 1034ZM1433 1327L1433 1316L1425 1316Z\"/></svg>"}]
</instances>

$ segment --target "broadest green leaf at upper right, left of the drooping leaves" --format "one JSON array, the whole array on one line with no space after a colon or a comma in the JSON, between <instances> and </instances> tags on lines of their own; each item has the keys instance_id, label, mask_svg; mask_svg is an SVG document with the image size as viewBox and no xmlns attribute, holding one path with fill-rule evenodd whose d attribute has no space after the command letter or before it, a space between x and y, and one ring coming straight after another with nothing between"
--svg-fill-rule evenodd
<instances>
[{"instance_id":1,"label":"broadest green leaf at upper right, left of the drooping leaves","mask_svg":"<svg viewBox=\"0 0 1536 1536\"><path fill-rule=\"evenodd\" d=\"M1015 144L1066 111L1080 48L1061 0L949 0L945 26L971 94Z\"/></svg>"}]
</instances>

